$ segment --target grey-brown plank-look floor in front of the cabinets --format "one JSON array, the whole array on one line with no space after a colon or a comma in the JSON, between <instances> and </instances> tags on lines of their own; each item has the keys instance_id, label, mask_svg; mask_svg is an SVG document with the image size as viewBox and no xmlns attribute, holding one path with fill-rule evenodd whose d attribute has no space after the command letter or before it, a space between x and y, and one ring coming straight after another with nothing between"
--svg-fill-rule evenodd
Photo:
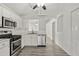
<instances>
[{"instance_id":1,"label":"grey-brown plank-look floor in front of the cabinets","mask_svg":"<svg viewBox=\"0 0 79 59\"><path fill-rule=\"evenodd\" d=\"M54 42L46 47L24 47L18 56L69 56Z\"/></svg>"}]
</instances>

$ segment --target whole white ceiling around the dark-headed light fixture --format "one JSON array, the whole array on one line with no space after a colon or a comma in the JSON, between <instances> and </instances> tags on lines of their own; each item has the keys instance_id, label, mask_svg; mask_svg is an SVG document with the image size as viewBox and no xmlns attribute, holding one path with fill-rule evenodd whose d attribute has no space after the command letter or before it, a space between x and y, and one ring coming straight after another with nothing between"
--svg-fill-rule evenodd
<instances>
[{"instance_id":1,"label":"whole white ceiling around the dark-headed light fixture","mask_svg":"<svg viewBox=\"0 0 79 59\"><path fill-rule=\"evenodd\" d=\"M38 15L39 12L41 14L47 15L49 17L55 17L59 13L62 13L64 9L69 9L73 6L76 6L78 3L45 3L46 10L43 10L42 8L36 8L35 10L32 9L32 7L35 5L35 3L3 3L10 9L12 9L14 12L16 12L20 16L35 16Z\"/></svg>"}]
</instances>

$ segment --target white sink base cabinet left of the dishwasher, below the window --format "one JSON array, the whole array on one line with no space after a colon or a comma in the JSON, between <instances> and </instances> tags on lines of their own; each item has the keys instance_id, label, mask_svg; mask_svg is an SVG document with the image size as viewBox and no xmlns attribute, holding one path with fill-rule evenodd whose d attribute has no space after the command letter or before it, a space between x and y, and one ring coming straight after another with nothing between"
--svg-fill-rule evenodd
<instances>
[{"instance_id":1,"label":"white sink base cabinet left of the dishwasher, below the window","mask_svg":"<svg viewBox=\"0 0 79 59\"><path fill-rule=\"evenodd\" d=\"M22 36L22 46L37 46L37 35L35 34L28 34Z\"/></svg>"}]
</instances>

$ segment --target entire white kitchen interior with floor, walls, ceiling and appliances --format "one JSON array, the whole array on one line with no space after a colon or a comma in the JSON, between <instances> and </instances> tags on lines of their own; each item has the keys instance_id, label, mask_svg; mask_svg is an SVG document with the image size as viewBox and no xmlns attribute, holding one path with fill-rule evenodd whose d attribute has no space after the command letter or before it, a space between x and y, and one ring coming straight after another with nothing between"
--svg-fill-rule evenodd
<instances>
[{"instance_id":1,"label":"entire white kitchen interior with floor, walls, ceiling and appliances","mask_svg":"<svg viewBox=\"0 0 79 59\"><path fill-rule=\"evenodd\" d=\"M1 3L0 56L79 56L78 12L79 3Z\"/></svg>"}]
</instances>

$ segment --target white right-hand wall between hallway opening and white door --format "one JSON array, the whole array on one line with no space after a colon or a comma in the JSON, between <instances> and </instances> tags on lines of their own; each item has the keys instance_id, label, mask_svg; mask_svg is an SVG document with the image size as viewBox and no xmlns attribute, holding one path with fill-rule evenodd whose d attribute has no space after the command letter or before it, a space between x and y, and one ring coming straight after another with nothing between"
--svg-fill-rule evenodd
<instances>
[{"instance_id":1,"label":"white right-hand wall between hallway opening and white door","mask_svg":"<svg viewBox=\"0 0 79 59\"><path fill-rule=\"evenodd\" d=\"M56 32L56 43L63 48L69 55L74 55L73 49L76 49L76 46L72 48L72 39L71 39L71 11L79 7L79 4L66 4L62 5L63 11L63 32ZM57 20L58 17L57 17ZM78 51L77 51L78 52Z\"/></svg>"}]
</instances>

